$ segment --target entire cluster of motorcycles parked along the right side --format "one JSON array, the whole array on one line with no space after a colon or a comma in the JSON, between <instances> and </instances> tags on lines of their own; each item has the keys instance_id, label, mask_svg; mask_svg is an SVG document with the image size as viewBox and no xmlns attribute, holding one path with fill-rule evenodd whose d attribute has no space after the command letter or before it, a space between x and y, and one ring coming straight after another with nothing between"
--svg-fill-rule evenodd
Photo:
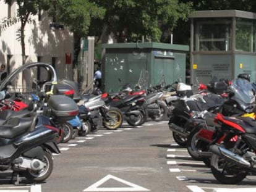
<instances>
[{"instance_id":1,"label":"entire cluster of motorcycles parked along the right side","mask_svg":"<svg viewBox=\"0 0 256 192\"><path fill-rule=\"evenodd\" d=\"M176 143L210 167L221 183L236 184L254 174L256 91L249 75L211 81L197 93L178 83L176 92L168 123Z\"/></svg>"}]
</instances>

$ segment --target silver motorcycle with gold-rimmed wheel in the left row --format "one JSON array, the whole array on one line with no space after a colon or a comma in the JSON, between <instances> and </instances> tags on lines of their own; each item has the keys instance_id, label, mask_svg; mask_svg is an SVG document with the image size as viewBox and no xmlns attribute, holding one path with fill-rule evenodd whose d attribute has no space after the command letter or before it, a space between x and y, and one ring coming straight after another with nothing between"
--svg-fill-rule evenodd
<instances>
[{"instance_id":1,"label":"silver motorcycle with gold-rimmed wheel in the left row","mask_svg":"<svg viewBox=\"0 0 256 192\"><path fill-rule=\"evenodd\" d=\"M123 115L116 107L106 106L101 96L95 96L93 91L100 91L98 88L88 88L79 93L77 83L70 80L59 81L62 85L69 85L74 90L74 101L79 106L79 119L84 125L79 131L80 135L87 135L89 131L97 131L101 125L109 130L115 130L121 127L123 122ZM99 93L97 93L99 94ZM90 112L90 114L88 114Z\"/></svg>"}]
</instances>

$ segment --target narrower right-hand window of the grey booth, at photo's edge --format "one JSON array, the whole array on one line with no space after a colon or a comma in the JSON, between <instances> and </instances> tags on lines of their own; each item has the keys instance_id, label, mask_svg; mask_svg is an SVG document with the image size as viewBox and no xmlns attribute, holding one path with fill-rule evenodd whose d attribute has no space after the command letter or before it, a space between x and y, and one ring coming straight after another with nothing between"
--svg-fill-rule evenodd
<instances>
[{"instance_id":1,"label":"narrower right-hand window of the grey booth, at photo's edge","mask_svg":"<svg viewBox=\"0 0 256 192\"><path fill-rule=\"evenodd\" d=\"M255 22L236 18L236 51L255 52Z\"/></svg>"}]
</instances>

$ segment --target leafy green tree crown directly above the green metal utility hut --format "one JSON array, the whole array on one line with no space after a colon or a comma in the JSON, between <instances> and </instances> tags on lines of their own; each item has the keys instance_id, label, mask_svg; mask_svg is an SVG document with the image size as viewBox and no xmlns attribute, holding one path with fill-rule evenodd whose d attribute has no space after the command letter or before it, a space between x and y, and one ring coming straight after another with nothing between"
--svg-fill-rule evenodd
<instances>
[{"instance_id":1,"label":"leafy green tree crown directly above the green metal utility hut","mask_svg":"<svg viewBox=\"0 0 256 192\"><path fill-rule=\"evenodd\" d=\"M180 3L178 0L91 0L105 7L103 20L94 20L90 26L90 34L113 33L118 42L142 40L160 42L176 27L178 20L187 20L192 3ZM99 28L96 25L101 26Z\"/></svg>"}]
</instances>

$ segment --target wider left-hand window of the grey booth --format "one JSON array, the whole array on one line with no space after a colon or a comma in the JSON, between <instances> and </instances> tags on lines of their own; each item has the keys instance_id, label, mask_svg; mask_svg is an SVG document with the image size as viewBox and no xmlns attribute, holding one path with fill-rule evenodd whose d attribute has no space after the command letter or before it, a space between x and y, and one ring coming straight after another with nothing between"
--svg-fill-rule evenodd
<instances>
[{"instance_id":1,"label":"wider left-hand window of the grey booth","mask_svg":"<svg viewBox=\"0 0 256 192\"><path fill-rule=\"evenodd\" d=\"M195 51L230 51L231 19L195 20Z\"/></svg>"}]
</instances>

